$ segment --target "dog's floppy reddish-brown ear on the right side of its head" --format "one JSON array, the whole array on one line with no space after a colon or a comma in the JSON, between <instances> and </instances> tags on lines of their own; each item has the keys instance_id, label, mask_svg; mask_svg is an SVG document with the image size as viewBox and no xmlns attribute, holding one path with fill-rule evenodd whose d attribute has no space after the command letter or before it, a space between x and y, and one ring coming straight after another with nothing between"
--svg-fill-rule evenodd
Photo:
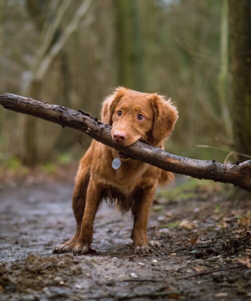
<instances>
[{"instance_id":1,"label":"dog's floppy reddish-brown ear on the right side of its head","mask_svg":"<svg viewBox=\"0 0 251 301\"><path fill-rule=\"evenodd\" d=\"M166 100L164 96L153 94L151 101L154 110L152 135L154 140L159 141L171 134L178 119L178 111L171 100Z\"/></svg>"}]
</instances>

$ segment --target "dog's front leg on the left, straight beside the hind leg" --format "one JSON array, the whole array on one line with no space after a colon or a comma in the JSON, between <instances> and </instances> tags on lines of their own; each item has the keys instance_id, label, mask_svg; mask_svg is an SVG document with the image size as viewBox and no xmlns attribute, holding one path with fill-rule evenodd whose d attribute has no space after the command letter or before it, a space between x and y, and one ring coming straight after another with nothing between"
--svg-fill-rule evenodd
<instances>
[{"instance_id":1,"label":"dog's front leg on the left, straight beside the hind leg","mask_svg":"<svg viewBox=\"0 0 251 301\"><path fill-rule=\"evenodd\" d=\"M85 254L89 251L93 236L93 222L101 201L102 188L90 177L86 193L86 203L81 222L78 240L72 249L74 254Z\"/></svg>"}]
</instances>

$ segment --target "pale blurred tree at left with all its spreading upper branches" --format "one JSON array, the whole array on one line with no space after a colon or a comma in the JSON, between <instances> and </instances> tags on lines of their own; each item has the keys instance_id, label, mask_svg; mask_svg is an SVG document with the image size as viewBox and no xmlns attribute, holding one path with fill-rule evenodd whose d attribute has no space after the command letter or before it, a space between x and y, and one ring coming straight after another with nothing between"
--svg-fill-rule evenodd
<instances>
[{"instance_id":1,"label":"pale blurred tree at left with all its spreading upper branches","mask_svg":"<svg viewBox=\"0 0 251 301\"><path fill-rule=\"evenodd\" d=\"M34 67L32 70L32 78L28 85L26 95L37 97L40 96L43 79L51 66L53 60L59 55L65 43L77 29L77 26L83 15L87 12L92 0L83 0L76 9L72 18L70 18L65 29L61 32L60 27L65 13L71 4L70 0L63 0L58 4L51 2L48 5L57 6L54 19L46 24L46 10L43 5L34 4L32 0L27 0L27 7L30 15L34 19L37 28L41 31L41 45L38 48ZM54 7L55 9L56 7ZM41 21L42 20L42 21ZM48 21L48 20L47 20ZM34 117L25 117L24 120L24 156L23 161L28 165L34 165L38 162L37 150L37 131L36 120Z\"/></svg>"}]
</instances>

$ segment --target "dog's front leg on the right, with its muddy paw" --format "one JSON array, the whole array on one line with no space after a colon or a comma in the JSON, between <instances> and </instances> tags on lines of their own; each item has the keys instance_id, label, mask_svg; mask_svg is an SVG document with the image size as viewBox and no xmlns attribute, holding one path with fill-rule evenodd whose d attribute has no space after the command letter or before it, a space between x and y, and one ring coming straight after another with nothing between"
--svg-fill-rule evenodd
<instances>
[{"instance_id":1,"label":"dog's front leg on the right, with its muddy paw","mask_svg":"<svg viewBox=\"0 0 251 301\"><path fill-rule=\"evenodd\" d=\"M138 200L138 203L133 210L134 229L132 232L132 239L134 241L135 254L149 253L152 247L160 246L157 241L148 242L147 240L147 224L155 190L156 186L144 189L141 199Z\"/></svg>"}]
</instances>

